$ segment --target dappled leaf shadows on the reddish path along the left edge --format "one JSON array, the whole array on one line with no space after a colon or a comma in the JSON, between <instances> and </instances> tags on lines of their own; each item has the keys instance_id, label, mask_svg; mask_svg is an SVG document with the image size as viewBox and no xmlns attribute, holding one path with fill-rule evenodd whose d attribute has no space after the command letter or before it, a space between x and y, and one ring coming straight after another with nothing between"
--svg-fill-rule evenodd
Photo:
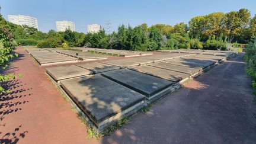
<instances>
[{"instance_id":1,"label":"dappled leaf shadows on the reddish path along the left edge","mask_svg":"<svg viewBox=\"0 0 256 144\"><path fill-rule=\"evenodd\" d=\"M11 60L11 62L14 63L17 60L23 59L22 57L23 55L19 55L18 58ZM4 71L2 70L1 74L15 73L16 71L18 71L18 68L11 65L7 69L4 69ZM26 84L23 84L18 78L8 82L2 82L1 86L4 89L9 89L10 92L0 95L0 143L17 143L28 133L27 130L21 130L24 129L23 124L17 125L10 132L2 131L1 127L12 125L5 120L5 117L14 116L15 113L19 113L22 110L22 105L29 103L26 97L33 95L31 92L28 92L32 88L26 88Z\"/></svg>"}]
</instances>

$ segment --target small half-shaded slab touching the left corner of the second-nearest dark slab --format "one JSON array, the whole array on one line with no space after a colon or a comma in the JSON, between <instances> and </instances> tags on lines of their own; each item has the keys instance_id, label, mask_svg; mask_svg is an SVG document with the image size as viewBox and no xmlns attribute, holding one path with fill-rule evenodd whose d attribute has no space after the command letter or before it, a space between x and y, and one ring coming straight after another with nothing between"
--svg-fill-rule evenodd
<instances>
[{"instance_id":1,"label":"small half-shaded slab touching the left corner of the second-nearest dark slab","mask_svg":"<svg viewBox=\"0 0 256 144\"><path fill-rule=\"evenodd\" d=\"M76 66L88 69L88 70L92 71L93 73L100 73L100 72L112 71L114 69L120 69L118 66L107 65L107 64L99 63L99 62L84 63L84 64L79 64Z\"/></svg>"}]
</instances>

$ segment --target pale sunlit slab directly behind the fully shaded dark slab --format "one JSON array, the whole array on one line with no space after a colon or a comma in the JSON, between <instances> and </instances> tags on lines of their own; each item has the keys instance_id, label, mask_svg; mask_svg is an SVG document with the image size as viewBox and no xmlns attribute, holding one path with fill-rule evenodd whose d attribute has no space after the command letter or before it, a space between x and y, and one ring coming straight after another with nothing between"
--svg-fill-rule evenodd
<instances>
[{"instance_id":1,"label":"pale sunlit slab directly behind the fully shaded dark slab","mask_svg":"<svg viewBox=\"0 0 256 144\"><path fill-rule=\"evenodd\" d=\"M155 68L153 66L136 66L132 69L133 71L146 73L148 75L153 75L159 78L168 79L169 81L178 82L182 79L190 77L187 73L181 73L181 72L175 72L175 71L169 71L167 69L161 69L161 68Z\"/></svg>"}]
</instances>

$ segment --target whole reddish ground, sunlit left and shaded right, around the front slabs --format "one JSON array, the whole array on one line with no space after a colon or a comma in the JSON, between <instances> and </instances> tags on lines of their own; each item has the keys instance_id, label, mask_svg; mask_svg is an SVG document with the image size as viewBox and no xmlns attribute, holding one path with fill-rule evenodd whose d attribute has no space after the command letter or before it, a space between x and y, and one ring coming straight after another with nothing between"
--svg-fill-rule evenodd
<instances>
[{"instance_id":1,"label":"whole reddish ground, sunlit left and shaded right, around the front slabs","mask_svg":"<svg viewBox=\"0 0 256 144\"><path fill-rule=\"evenodd\" d=\"M18 47L8 72L23 73L0 96L0 143L256 143L256 104L239 54L167 95L147 113L103 139L87 129L44 74Z\"/></svg>"}]
</instances>

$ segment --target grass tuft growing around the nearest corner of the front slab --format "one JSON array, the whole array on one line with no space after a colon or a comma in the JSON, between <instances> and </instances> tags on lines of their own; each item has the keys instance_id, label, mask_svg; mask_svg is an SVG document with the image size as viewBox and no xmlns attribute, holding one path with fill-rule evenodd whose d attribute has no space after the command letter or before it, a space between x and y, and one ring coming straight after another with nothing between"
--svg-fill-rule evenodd
<instances>
[{"instance_id":1,"label":"grass tuft growing around the nearest corner of the front slab","mask_svg":"<svg viewBox=\"0 0 256 144\"><path fill-rule=\"evenodd\" d=\"M84 119L82 113L77 113L77 114L78 114L78 118L87 127L87 133L88 133L87 139L91 139L91 138L100 139L105 135L110 135L114 131L119 130L121 127L123 127L124 124L130 123L130 119L128 117L122 117L119 121L117 121L117 123L112 124L111 126L108 126L102 132L97 132L95 129L89 126L88 122Z\"/></svg>"}]
</instances>

